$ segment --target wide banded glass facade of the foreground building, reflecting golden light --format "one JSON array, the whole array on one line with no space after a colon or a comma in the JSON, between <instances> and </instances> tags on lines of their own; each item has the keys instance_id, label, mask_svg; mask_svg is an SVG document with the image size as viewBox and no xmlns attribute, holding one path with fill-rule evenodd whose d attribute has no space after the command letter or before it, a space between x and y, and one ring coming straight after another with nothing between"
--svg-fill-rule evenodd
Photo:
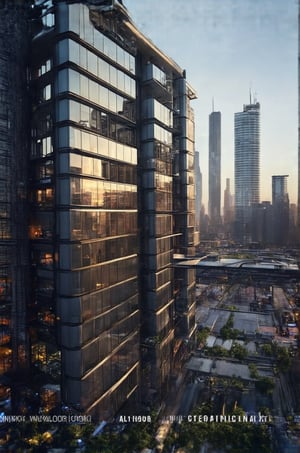
<instances>
[{"instance_id":1,"label":"wide banded glass facade of the foreground building, reflecting golden light","mask_svg":"<svg viewBox=\"0 0 300 453\"><path fill-rule=\"evenodd\" d=\"M32 360L67 404L107 419L139 382L135 57L85 5L54 17L32 71Z\"/></svg>"}]
</instances>

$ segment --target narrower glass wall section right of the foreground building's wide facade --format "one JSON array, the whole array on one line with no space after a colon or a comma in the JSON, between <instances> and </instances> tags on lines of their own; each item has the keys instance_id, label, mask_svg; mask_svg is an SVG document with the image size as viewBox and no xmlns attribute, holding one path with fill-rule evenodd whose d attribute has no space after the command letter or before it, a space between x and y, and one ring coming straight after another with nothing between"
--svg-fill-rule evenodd
<instances>
[{"instance_id":1,"label":"narrower glass wall section right of the foreground building's wide facade","mask_svg":"<svg viewBox=\"0 0 300 453\"><path fill-rule=\"evenodd\" d=\"M141 291L143 383L161 398L172 372L173 175L172 73L142 61ZM154 393L153 393L154 392Z\"/></svg>"}]
</instances>

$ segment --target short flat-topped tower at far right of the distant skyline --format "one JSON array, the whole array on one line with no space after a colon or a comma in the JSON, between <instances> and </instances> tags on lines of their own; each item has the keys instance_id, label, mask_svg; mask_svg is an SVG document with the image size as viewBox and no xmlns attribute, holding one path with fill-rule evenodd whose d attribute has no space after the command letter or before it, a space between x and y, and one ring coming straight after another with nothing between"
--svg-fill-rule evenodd
<instances>
[{"instance_id":1,"label":"short flat-topped tower at far right of the distant skyline","mask_svg":"<svg viewBox=\"0 0 300 453\"><path fill-rule=\"evenodd\" d=\"M272 176L273 240L276 245L285 245L289 240L289 194L288 175Z\"/></svg>"}]
</instances>

